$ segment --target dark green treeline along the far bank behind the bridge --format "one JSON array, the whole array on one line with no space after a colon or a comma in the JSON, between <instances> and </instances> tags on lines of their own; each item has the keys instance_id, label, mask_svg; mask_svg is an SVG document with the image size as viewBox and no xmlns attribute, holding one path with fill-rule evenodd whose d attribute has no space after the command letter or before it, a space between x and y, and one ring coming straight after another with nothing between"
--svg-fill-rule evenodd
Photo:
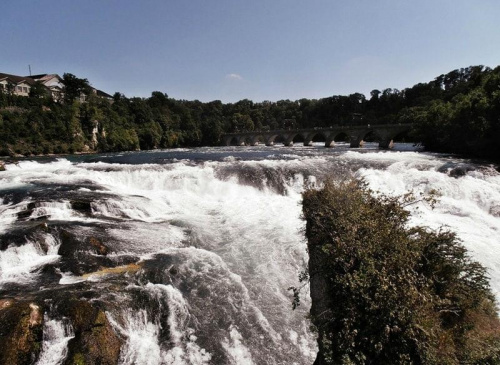
<instances>
[{"instance_id":1,"label":"dark green treeline along the far bank behind the bridge","mask_svg":"<svg viewBox=\"0 0 500 365\"><path fill-rule=\"evenodd\" d=\"M84 87L78 90L85 92ZM219 145L228 132L413 123L412 138L431 150L500 159L499 119L500 66L454 70L404 90L373 90L369 98L355 93L224 104L176 100L155 91L149 98L116 93L108 101L90 94L85 103L67 97L57 103L49 95L4 92L0 155L194 147Z\"/></svg>"}]
</instances>

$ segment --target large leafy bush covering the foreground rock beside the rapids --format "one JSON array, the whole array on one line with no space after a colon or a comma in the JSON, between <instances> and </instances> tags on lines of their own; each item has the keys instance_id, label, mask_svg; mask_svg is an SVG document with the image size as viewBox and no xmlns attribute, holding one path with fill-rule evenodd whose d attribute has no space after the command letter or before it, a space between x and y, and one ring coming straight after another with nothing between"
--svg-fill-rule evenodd
<instances>
[{"instance_id":1,"label":"large leafy bush covering the foreground rock beside the rapids","mask_svg":"<svg viewBox=\"0 0 500 365\"><path fill-rule=\"evenodd\" d=\"M304 193L319 364L500 363L484 267L405 204L357 181Z\"/></svg>"}]
</instances>

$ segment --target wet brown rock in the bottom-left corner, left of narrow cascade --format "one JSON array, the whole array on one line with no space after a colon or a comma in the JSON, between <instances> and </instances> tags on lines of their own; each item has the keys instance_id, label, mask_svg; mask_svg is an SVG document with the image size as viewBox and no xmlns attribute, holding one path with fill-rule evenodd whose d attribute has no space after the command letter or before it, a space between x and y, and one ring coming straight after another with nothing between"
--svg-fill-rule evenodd
<instances>
[{"instance_id":1,"label":"wet brown rock in the bottom-left corner, left of narrow cascade","mask_svg":"<svg viewBox=\"0 0 500 365\"><path fill-rule=\"evenodd\" d=\"M43 315L36 303L2 300L0 363L33 364L42 348Z\"/></svg>"}]
</instances>

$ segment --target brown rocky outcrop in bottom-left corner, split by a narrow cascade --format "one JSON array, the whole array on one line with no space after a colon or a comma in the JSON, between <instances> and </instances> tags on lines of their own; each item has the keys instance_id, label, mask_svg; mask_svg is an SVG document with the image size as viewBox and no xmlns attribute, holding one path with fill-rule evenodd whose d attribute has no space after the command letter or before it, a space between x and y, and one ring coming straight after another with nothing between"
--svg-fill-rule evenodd
<instances>
[{"instance_id":1,"label":"brown rocky outcrop in bottom-left corner, split by a narrow cascade","mask_svg":"<svg viewBox=\"0 0 500 365\"><path fill-rule=\"evenodd\" d=\"M91 292L82 295L93 297ZM49 298L50 297L50 298ZM116 365L123 339L115 332L98 301L61 298L52 292L45 299L0 299L0 364L31 365L38 360L43 342L44 310L66 318L74 337L68 342L65 365ZM42 306L40 303L51 303Z\"/></svg>"}]
</instances>

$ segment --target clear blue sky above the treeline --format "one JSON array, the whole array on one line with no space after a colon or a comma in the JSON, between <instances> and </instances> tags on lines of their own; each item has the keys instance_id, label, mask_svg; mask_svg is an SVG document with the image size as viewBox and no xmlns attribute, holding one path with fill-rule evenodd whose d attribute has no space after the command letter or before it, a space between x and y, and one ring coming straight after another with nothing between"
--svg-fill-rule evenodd
<instances>
[{"instance_id":1,"label":"clear blue sky above the treeline","mask_svg":"<svg viewBox=\"0 0 500 365\"><path fill-rule=\"evenodd\" d=\"M500 64L498 0L2 0L0 72L234 102L403 89Z\"/></svg>"}]
</instances>

